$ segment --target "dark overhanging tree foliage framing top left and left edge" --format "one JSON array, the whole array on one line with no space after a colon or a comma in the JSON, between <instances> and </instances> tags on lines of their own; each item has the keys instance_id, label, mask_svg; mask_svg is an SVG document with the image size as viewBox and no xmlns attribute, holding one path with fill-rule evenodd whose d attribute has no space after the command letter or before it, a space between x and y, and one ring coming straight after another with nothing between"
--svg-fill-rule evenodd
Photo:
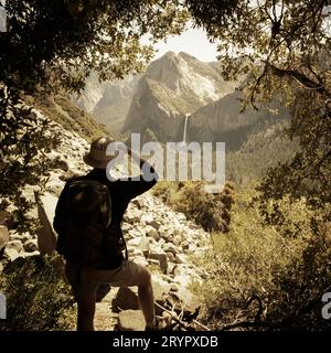
<instances>
[{"instance_id":1,"label":"dark overhanging tree foliage framing top left and left edge","mask_svg":"<svg viewBox=\"0 0 331 353\"><path fill-rule=\"evenodd\" d=\"M25 94L79 93L92 71L100 81L140 72L149 43L183 28L186 11L169 1L13 0L6 1L7 32L0 33L0 192L22 213L26 183L40 183L51 165L44 154L58 138L47 135L23 101ZM8 206L7 201L1 208ZM20 217L21 218L21 217ZM24 223L21 218L21 223ZM24 223L28 224L28 223Z\"/></svg>"}]
</instances>

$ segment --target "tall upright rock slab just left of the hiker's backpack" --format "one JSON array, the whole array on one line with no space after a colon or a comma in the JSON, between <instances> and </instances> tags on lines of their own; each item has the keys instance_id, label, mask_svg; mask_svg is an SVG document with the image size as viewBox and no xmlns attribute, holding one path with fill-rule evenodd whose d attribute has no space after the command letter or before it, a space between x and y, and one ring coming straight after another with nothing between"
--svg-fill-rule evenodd
<instances>
[{"instance_id":1,"label":"tall upright rock slab just left of the hiker's backpack","mask_svg":"<svg viewBox=\"0 0 331 353\"><path fill-rule=\"evenodd\" d=\"M51 193L45 193L42 196L35 195L38 203L38 215L41 222L41 227L38 229L38 247L41 255L52 255L56 248L56 234L53 228L53 220L57 197Z\"/></svg>"}]
</instances>

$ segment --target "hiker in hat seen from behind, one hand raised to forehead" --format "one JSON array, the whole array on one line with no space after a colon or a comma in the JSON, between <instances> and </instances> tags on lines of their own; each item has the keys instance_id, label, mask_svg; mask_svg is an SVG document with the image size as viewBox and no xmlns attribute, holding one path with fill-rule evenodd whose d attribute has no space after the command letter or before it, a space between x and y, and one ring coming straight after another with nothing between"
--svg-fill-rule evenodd
<instances>
[{"instance_id":1,"label":"hiker in hat seen from behind, one hand raised to forehead","mask_svg":"<svg viewBox=\"0 0 331 353\"><path fill-rule=\"evenodd\" d=\"M106 168L114 157L107 156L106 149L110 142L114 141L108 137L93 141L83 159L94 169L84 176L70 180L62 191L54 217L54 229L58 234L56 249L66 259L66 276L77 301L77 331L94 331L99 284L138 286L146 330L153 330L156 314L151 276L145 267L124 255L126 246L120 224L129 202L151 189L157 178L145 181L146 169L142 170L142 165L147 162L128 149L129 156L142 171L140 180L127 178L109 181ZM146 165L154 173L150 164ZM110 200L107 200L107 194ZM71 208L76 211L73 213Z\"/></svg>"}]
</instances>

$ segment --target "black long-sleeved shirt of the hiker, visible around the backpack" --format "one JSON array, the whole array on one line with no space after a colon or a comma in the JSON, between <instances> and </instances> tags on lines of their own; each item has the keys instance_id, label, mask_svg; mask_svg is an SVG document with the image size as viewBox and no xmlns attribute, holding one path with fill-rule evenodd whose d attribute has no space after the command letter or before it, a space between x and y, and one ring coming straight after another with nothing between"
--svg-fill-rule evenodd
<instances>
[{"instance_id":1,"label":"black long-sleeved shirt of the hiker, visible around the backpack","mask_svg":"<svg viewBox=\"0 0 331 353\"><path fill-rule=\"evenodd\" d=\"M89 173L83 176L78 176L78 179L88 179L95 180L104 183L108 186L111 197L111 223L110 226L118 238L122 237L122 231L120 228L120 224L124 217L124 214L128 207L129 202L136 196L145 193L149 189L151 189L157 183L157 174L154 169L150 167L150 172L154 173L156 178L152 181L145 181L143 175L140 175L139 181L135 181L131 178L128 180L116 180L109 181L106 175L105 169L94 169ZM77 179L75 179L77 180ZM62 191L58 202L55 210L55 216L53 226L56 233L58 234L57 238L57 250L61 248L61 237L64 233L66 211L65 211L65 193L67 190L68 182L64 186ZM60 252L61 253L61 252Z\"/></svg>"}]
</instances>

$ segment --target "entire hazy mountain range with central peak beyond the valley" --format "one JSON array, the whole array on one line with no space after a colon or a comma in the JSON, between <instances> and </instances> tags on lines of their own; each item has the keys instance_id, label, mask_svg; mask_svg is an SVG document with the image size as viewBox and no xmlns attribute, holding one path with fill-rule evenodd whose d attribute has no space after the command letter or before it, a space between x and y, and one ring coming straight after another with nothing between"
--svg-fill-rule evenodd
<instances>
[{"instance_id":1,"label":"entire hazy mountain range with central peak beyond the valley","mask_svg":"<svg viewBox=\"0 0 331 353\"><path fill-rule=\"evenodd\" d=\"M256 124L271 115L267 108L247 108L242 114L236 88L245 77L226 82L222 69L220 62L203 63L183 52L168 52L140 76L100 84L92 75L77 104L117 136L139 132L143 142L182 141L189 116L188 142L222 141L237 149ZM279 109L279 116L285 115Z\"/></svg>"}]
</instances>

